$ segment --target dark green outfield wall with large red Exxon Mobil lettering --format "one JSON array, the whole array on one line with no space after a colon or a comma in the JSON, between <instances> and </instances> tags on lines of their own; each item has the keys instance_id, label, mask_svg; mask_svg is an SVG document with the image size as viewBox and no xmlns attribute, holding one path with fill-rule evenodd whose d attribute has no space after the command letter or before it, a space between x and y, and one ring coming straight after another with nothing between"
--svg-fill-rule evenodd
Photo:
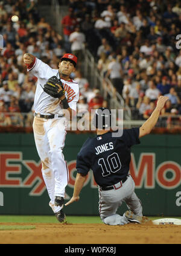
<instances>
[{"instance_id":1,"label":"dark green outfield wall with large red Exxon Mobil lettering","mask_svg":"<svg viewBox=\"0 0 181 256\"><path fill-rule=\"evenodd\" d=\"M72 196L77 153L92 134L68 133L63 150L69 168L66 200ZM147 216L181 216L181 136L147 135L132 147L130 173ZM33 134L0 133L0 214L52 214ZM66 201L67 202L67 201ZM122 205L118 213L123 213ZM80 201L68 215L98 215L98 190L87 176Z\"/></svg>"}]
</instances>

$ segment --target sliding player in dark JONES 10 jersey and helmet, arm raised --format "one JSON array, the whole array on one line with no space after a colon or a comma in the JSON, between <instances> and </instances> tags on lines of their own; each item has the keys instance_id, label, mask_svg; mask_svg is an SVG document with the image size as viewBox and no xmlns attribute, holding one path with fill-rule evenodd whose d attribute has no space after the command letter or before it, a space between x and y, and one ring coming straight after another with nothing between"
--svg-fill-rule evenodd
<instances>
[{"instance_id":1,"label":"sliding player in dark JONES 10 jersey and helmet, arm raised","mask_svg":"<svg viewBox=\"0 0 181 256\"><path fill-rule=\"evenodd\" d=\"M139 144L139 138L150 133L167 100L168 97L160 96L151 117L140 128L123 130L119 137L112 136L112 132L105 130L110 123L110 110L97 109L94 115L97 136L88 138L78 153L74 194L65 205L79 200L80 191L91 168L98 184L100 217L105 224L124 225L148 221L147 217L142 216L141 201L135 194L135 182L129 175L130 147ZM127 204L129 211L120 216L116 211L122 202Z\"/></svg>"}]
</instances>

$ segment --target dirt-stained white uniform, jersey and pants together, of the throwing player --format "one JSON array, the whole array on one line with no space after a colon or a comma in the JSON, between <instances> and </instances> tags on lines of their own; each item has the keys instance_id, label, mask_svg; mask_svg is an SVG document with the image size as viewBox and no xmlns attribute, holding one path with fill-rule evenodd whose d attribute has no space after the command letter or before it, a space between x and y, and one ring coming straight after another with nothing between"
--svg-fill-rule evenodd
<instances>
[{"instance_id":1,"label":"dirt-stained white uniform, jersey and pants together, of the throwing player","mask_svg":"<svg viewBox=\"0 0 181 256\"><path fill-rule=\"evenodd\" d=\"M28 71L38 78L34 97L35 112L42 115L63 114L60 99L46 94L42 88L48 78L54 75L60 78L59 70L52 69L36 59L33 67ZM61 79L61 81L69 107L76 111L79 97L78 83L74 80ZM49 206L54 213L58 213L63 205L55 205L54 199L55 196L65 197L65 187L69 180L68 168L62 152L65 146L66 118L46 119L36 116L33 121L33 132L37 153L42 161L42 176L50 198Z\"/></svg>"}]
</instances>

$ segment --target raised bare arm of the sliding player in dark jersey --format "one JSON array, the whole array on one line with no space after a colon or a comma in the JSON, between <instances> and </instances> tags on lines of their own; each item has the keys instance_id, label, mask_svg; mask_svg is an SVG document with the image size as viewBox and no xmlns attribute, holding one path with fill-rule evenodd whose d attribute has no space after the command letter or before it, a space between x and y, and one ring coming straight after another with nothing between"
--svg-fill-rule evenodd
<instances>
[{"instance_id":1,"label":"raised bare arm of the sliding player in dark jersey","mask_svg":"<svg viewBox=\"0 0 181 256\"><path fill-rule=\"evenodd\" d=\"M151 132L160 115L160 111L164 108L165 102L168 100L168 97L160 96L157 100L156 108L154 109L151 117L145 121L144 124L139 128L139 138L145 136Z\"/></svg>"}]
</instances>

